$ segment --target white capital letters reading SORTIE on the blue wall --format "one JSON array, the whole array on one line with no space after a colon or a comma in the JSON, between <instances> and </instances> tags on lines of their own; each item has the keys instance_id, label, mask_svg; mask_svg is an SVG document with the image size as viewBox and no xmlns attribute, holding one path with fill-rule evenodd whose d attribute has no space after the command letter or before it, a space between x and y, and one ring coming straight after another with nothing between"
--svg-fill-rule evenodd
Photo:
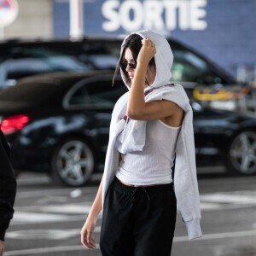
<instances>
[{"instance_id":1,"label":"white capital letters reading SORTIE on the blue wall","mask_svg":"<svg viewBox=\"0 0 256 256\"><path fill-rule=\"evenodd\" d=\"M105 32L205 30L207 0L108 0L102 4Z\"/></svg>"}]
</instances>

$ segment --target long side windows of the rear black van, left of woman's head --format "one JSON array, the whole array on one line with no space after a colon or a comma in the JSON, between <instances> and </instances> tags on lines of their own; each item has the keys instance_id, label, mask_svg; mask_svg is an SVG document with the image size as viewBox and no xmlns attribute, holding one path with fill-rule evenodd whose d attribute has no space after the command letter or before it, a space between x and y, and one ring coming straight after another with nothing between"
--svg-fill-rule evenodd
<instances>
[{"instance_id":1,"label":"long side windows of the rear black van, left of woman's head","mask_svg":"<svg viewBox=\"0 0 256 256\"><path fill-rule=\"evenodd\" d=\"M0 60L0 86L38 73L114 69L118 58L106 49L81 45L17 46Z\"/></svg>"}]
</instances>

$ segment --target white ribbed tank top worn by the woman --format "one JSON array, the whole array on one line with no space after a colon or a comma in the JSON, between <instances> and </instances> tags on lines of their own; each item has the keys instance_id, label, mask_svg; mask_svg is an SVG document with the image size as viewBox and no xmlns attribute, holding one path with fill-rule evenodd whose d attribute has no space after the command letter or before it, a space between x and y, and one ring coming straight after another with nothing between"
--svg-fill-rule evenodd
<instances>
[{"instance_id":1,"label":"white ribbed tank top worn by the woman","mask_svg":"<svg viewBox=\"0 0 256 256\"><path fill-rule=\"evenodd\" d=\"M147 122L143 151L123 154L116 177L133 185L172 183L172 166L180 127Z\"/></svg>"}]
</instances>

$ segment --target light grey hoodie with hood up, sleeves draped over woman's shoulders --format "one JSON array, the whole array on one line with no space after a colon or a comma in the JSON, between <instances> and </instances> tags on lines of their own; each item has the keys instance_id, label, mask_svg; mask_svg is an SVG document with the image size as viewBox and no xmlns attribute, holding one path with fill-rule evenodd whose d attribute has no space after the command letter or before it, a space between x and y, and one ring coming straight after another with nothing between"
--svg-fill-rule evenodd
<instances>
[{"instance_id":1,"label":"light grey hoodie with hood up, sleeves draped over woman's shoulders","mask_svg":"<svg viewBox=\"0 0 256 256\"><path fill-rule=\"evenodd\" d=\"M145 96L145 101L160 101L164 99L175 102L180 108L183 108L185 113L183 125L177 138L174 189L177 197L177 206L181 212L183 222L186 224L189 239L194 239L201 236L201 209L195 166L193 112L189 105L189 98L180 84L165 86L170 84L173 61L172 49L166 38L148 30L137 32L137 34L143 38L150 38L156 46L156 54L154 55L156 78L154 83L145 89L153 89L152 92ZM121 47L121 54L125 40ZM121 75L126 86L130 89L131 84L125 80L122 71ZM143 150L145 145L147 121L130 119L129 122L125 122L125 119L122 119L125 115L128 95L129 91L119 98L113 108L108 150L102 177L102 204L109 185L118 170L119 151L126 154ZM117 140L121 144L119 151L114 147Z\"/></svg>"}]
</instances>

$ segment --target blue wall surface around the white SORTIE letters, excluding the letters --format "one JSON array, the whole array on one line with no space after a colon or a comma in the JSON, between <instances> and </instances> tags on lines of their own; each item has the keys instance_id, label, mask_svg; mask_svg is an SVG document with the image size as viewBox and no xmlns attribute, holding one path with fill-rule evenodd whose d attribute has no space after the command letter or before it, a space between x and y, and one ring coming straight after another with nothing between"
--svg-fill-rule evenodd
<instances>
[{"instance_id":1,"label":"blue wall surface around the white SORTIE letters, excluding the letters","mask_svg":"<svg viewBox=\"0 0 256 256\"><path fill-rule=\"evenodd\" d=\"M124 2L132 2L143 6L146 0L115 0L118 6L113 9L113 14L118 15L121 5ZM201 5L201 10L205 15L201 16L207 24L202 30L185 29L182 30L177 11L177 26L170 30L165 29L167 36L178 39L207 55L212 61L217 62L221 67L236 75L239 65L246 65L253 68L256 65L256 0L158 0L163 5L164 2L180 1L189 6L189 1L199 1L205 3ZM104 22L108 22L108 17L102 14L102 4L113 2L112 0L84 0L84 34L108 34L117 35L127 33L122 26L113 32L106 32L102 28ZM191 2L190 2L191 3ZM54 0L54 29L55 37L68 37L69 34L69 1ZM166 9L162 9L162 20L165 19ZM131 10L131 20L136 14ZM143 26L139 29L143 29ZM153 27L154 30L155 27Z\"/></svg>"}]
</instances>

